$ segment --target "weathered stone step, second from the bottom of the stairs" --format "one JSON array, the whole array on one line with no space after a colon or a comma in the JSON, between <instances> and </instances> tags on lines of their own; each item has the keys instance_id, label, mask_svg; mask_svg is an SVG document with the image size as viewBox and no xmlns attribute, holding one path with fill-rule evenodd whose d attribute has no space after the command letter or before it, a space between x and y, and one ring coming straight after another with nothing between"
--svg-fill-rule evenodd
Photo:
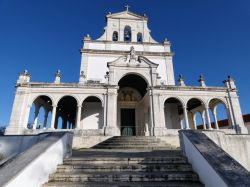
<instances>
[{"instance_id":1,"label":"weathered stone step, second from the bottom of the stairs","mask_svg":"<svg viewBox=\"0 0 250 187\"><path fill-rule=\"evenodd\" d=\"M109 172L109 173L55 173L51 182L152 182L198 181L193 172Z\"/></svg>"}]
</instances>

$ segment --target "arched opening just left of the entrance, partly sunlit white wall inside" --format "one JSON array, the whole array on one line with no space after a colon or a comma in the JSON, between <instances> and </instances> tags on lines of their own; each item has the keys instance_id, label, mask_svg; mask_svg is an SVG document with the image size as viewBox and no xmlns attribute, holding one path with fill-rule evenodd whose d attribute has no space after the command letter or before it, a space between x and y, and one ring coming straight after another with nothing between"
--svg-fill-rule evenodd
<instances>
[{"instance_id":1,"label":"arched opening just left of the entrance, partly sunlit white wall inside","mask_svg":"<svg viewBox=\"0 0 250 187\"><path fill-rule=\"evenodd\" d=\"M81 129L102 129L104 125L102 101L96 96L87 97L82 104Z\"/></svg>"}]
</instances>

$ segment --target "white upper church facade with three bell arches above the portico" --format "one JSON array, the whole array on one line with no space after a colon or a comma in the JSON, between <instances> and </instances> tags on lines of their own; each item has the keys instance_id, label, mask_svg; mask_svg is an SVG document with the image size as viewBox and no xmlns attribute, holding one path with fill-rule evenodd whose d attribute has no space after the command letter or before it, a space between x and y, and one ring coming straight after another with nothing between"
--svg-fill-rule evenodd
<instances>
[{"instance_id":1,"label":"white upper church facade with three bell arches above the portico","mask_svg":"<svg viewBox=\"0 0 250 187\"><path fill-rule=\"evenodd\" d=\"M170 42L158 43L151 36L148 17L129 11L109 12L103 35L94 40L90 35L84 37L81 49L81 69L88 81L105 82L107 63L123 55L128 55L131 47L138 56L144 56L158 64L157 74L161 84L175 85Z\"/></svg>"}]
</instances>

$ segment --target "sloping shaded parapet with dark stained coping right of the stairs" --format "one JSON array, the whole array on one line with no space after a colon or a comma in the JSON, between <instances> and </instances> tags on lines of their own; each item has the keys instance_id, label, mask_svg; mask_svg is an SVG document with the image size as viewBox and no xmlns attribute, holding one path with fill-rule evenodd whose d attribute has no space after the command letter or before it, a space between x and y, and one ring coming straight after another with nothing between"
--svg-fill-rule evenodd
<instances>
[{"instance_id":1,"label":"sloping shaded parapet with dark stained coping right of the stairs","mask_svg":"<svg viewBox=\"0 0 250 187\"><path fill-rule=\"evenodd\" d=\"M249 186L250 172L204 133L183 130L180 138L184 155L206 187Z\"/></svg>"}]
</instances>

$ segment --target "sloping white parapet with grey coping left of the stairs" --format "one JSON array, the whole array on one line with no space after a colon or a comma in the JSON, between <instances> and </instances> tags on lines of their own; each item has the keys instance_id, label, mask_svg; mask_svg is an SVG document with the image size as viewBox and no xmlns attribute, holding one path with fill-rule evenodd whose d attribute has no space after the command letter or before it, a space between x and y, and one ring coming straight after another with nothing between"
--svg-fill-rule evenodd
<instances>
[{"instance_id":1,"label":"sloping white parapet with grey coping left of the stairs","mask_svg":"<svg viewBox=\"0 0 250 187\"><path fill-rule=\"evenodd\" d=\"M34 187L48 181L57 165L72 154L72 137L69 132L49 133L0 167L0 186Z\"/></svg>"}]
</instances>

